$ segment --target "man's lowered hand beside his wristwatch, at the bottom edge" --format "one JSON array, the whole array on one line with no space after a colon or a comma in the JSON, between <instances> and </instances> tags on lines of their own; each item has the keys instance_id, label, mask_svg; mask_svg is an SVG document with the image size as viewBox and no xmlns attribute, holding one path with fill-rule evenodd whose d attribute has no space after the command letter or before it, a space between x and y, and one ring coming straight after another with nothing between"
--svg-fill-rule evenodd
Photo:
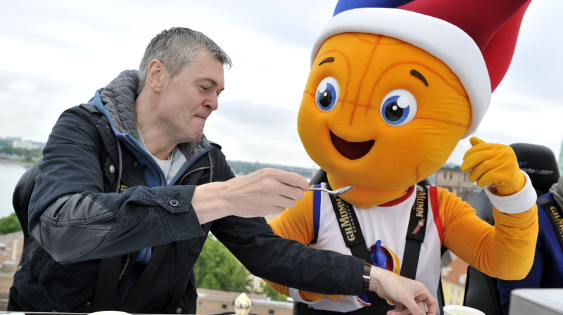
<instances>
[{"instance_id":1,"label":"man's lowered hand beside his wristwatch, at the bottom edge","mask_svg":"<svg viewBox=\"0 0 563 315\"><path fill-rule=\"evenodd\" d=\"M370 273L369 290L374 291L385 300L395 302L395 309L388 311L387 315L428 314L435 315L438 301L422 282L414 281L395 274L391 271L372 266Z\"/></svg>"}]
</instances>

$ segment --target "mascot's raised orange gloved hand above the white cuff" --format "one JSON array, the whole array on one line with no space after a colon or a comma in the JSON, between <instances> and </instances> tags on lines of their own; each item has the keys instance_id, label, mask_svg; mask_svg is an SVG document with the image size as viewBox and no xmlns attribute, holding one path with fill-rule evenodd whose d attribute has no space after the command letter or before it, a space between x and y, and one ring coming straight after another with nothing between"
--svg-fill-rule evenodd
<instances>
[{"instance_id":1,"label":"mascot's raised orange gloved hand above the white cuff","mask_svg":"<svg viewBox=\"0 0 563 315\"><path fill-rule=\"evenodd\" d=\"M513 195L524 187L526 179L520 171L514 150L498 143L486 143L472 137L472 148L463 157L461 169L469 172L469 181L477 186L495 185L498 195Z\"/></svg>"}]
</instances>

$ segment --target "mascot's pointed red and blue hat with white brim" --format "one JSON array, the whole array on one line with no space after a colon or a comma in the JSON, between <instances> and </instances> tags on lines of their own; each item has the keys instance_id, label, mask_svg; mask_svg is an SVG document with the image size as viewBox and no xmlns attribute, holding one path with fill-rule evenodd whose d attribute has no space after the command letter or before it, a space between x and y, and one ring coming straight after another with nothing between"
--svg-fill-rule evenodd
<instances>
[{"instance_id":1,"label":"mascot's pointed red and blue hat with white brim","mask_svg":"<svg viewBox=\"0 0 563 315\"><path fill-rule=\"evenodd\" d=\"M428 51L459 77L475 131L505 76L531 0L339 0L312 49L344 32L393 37Z\"/></svg>"}]
</instances>

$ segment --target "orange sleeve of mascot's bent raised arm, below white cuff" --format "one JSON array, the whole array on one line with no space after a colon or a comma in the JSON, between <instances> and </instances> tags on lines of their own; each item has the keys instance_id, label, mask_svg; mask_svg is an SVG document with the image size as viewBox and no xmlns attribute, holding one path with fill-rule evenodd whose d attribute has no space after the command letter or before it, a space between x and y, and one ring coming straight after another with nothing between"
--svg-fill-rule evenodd
<instances>
[{"instance_id":1,"label":"orange sleeve of mascot's bent raised arm, below white cuff","mask_svg":"<svg viewBox=\"0 0 563 315\"><path fill-rule=\"evenodd\" d=\"M488 276L519 280L529 273L538 238L535 204L516 214L493 208L495 226L491 226L454 193L443 188L437 192L446 248Z\"/></svg>"}]
</instances>

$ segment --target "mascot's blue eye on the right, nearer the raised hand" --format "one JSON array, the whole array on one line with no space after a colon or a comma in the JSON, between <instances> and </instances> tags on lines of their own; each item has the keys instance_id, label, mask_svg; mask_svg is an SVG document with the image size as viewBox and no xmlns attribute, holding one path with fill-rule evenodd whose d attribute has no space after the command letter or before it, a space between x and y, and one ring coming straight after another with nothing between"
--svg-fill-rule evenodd
<instances>
[{"instance_id":1,"label":"mascot's blue eye on the right, nearer the raised hand","mask_svg":"<svg viewBox=\"0 0 563 315\"><path fill-rule=\"evenodd\" d=\"M391 126L408 124L416 113L417 99L407 90L393 90L381 101L381 117Z\"/></svg>"}]
</instances>

